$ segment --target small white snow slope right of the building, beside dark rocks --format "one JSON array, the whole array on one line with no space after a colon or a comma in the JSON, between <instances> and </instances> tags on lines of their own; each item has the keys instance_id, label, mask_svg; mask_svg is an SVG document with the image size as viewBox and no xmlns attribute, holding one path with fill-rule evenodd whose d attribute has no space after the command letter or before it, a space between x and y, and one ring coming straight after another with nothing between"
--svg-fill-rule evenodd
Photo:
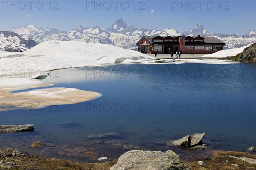
<instances>
[{"instance_id":1,"label":"small white snow slope right of the building, beside dark rocks","mask_svg":"<svg viewBox=\"0 0 256 170\"><path fill-rule=\"evenodd\" d=\"M250 45L248 45L250 46ZM202 57L214 57L214 58L224 58L224 57L232 57L244 51L244 49L248 46L243 46L240 48L234 49L224 49L212 54L203 55Z\"/></svg>"}]
</instances>

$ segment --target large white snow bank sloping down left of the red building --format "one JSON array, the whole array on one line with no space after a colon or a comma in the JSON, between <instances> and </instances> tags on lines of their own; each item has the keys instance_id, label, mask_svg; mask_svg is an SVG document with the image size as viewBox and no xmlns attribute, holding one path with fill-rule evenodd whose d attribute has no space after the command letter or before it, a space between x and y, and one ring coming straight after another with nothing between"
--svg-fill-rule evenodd
<instances>
[{"instance_id":1,"label":"large white snow bank sloping down left of the red building","mask_svg":"<svg viewBox=\"0 0 256 170\"><path fill-rule=\"evenodd\" d=\"M3 56L2 56L3 55ZM15 55L17 57L15 57ZM23 53L1 53L0 69L53 69L154 60L134 50L78 41L45 41Z\"/></svg>"}]
</instances>

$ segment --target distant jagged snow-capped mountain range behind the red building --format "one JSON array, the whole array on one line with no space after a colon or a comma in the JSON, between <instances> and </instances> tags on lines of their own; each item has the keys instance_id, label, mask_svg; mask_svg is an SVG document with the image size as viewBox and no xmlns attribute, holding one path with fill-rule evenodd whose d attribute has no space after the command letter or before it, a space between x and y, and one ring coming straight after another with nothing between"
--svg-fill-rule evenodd
<instances>
[{"instance_id":1,"label":"distant jagged snow-capped mountain range behind the red building","mask_svg":"<svg viewBox=\"0 0 256 170\"><path fill-rule=\"evenodd\" d=\"M245 35L226 35L222 33L209 33L207 29L200 24L197 24L193 29L186 32L178 32L177 30L170 28L163 30L144 28L137 29L134 26L128 26L122 19L117 20L107 29L103 29L100 26L94 26L92 28L77 26L70 32L65 32L55 28L50 29L49 27L44 28L36 27L35 25L29 25L20 28L12 28L11 32L15 32L21 37L35 40L37 43L41 43L46 40L77 40L87 43L111 44L126 49L134 49L136 47L137 41L145 35L215 36L226 43L225 49L241 47L256 42L255 30L251 30Z\"/></svg>"}]
</instances>

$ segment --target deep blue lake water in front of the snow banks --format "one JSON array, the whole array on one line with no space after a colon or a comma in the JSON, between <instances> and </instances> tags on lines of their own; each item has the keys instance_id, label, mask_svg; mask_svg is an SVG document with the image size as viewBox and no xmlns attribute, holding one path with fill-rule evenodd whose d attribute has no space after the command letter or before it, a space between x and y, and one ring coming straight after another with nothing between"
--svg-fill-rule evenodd
<instances>
[{"instance_id":1,"label":"deep blue lake water in front of the snow banks","mask_svg":"<svg viewBox=\"0 0 256 170\"><path fill-rule=\"evenodd\" d=\"M110 131L120 134L122 144L138 146L203 132L216 149L256 146L254 63L117 64L51 75L43 81L53 87L102 96L79 104L1 112L1 125L35 124L35 132L1 134L0 147L26 150L32 141L43 141L61 150L67 144L84 146L91 133ZM57 150L49 148L49 154Z\"/></svg>"}]
</instances>

